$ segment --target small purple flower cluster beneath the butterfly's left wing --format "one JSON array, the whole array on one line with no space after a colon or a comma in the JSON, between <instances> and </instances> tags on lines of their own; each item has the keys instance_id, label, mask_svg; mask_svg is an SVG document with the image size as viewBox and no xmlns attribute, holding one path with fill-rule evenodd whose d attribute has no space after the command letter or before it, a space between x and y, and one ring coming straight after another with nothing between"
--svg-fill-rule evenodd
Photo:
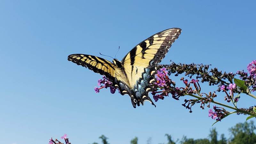
<instances>
[{"instance_id":1,"label":"small purple flower cluster beneath the butterfly's left wing","mask_svg":"<svg viewBox=\"0 0 256 144\"><path fill-rule=\"evenodd\" d=\"M108 88L108 87L110 88L111 93L115 93L116 89L119 91L119 89L117 87L114 87L113 83L107 77L103 76L102 78L103 78L103 80L101 80L101 79L98 80L98 86L100 86L100 88L94 87L94 91L96 93L100 92L100 89ZM101 86L101 84L104 84L104 85ZM119 91L119 93L120 93L120 91Z\"/></svg>"}]
</instances>

